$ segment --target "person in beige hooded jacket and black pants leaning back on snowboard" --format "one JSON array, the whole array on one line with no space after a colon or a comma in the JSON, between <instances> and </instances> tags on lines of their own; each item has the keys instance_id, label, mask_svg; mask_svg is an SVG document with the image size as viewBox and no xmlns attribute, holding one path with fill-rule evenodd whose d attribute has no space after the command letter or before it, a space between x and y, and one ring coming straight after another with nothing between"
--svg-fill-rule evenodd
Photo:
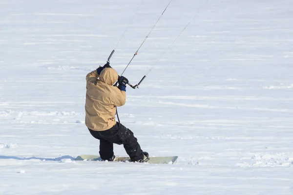
<instances>
[{"instance_id":1,"label":"person in beige hooded jacket and black pants leaning back on snowboard","mask_svg":"<svg viewBox=\"0 0 293 195\"><path fill-rule=\"evenodd\" d=\"M113 86L118 80L119 86ZM100 140L100 157L113 161L113 143L123 144L131 161L146 162L133 132L115 120L116 107L126 102L127 78L119 77L109 62L86 75L85 125L90 134Z\"/></svg>"}]
</instances>

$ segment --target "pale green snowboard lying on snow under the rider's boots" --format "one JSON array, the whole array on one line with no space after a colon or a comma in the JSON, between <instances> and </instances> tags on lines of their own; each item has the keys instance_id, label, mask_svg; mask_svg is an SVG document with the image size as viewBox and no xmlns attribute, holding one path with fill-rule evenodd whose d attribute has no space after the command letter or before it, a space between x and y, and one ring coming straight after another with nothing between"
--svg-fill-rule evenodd
<instances>
[{"instance_id":1,"label":"pale green snowboard lying on snow under the rider's boots","mask_svg":"<svg viewBox=\"0 0 293 195\"><path fill-rule=\"evenodd\" d=\"M160 157L149 157L146 163L149 164L173 164L177 160L178 156L160 156ZM96 155L80 155L75 158L75 160L84 161L104 161L100 156ZM119 162L130 162L129 157L117 156L114 161Z\"/></svg>"}]
</instances>

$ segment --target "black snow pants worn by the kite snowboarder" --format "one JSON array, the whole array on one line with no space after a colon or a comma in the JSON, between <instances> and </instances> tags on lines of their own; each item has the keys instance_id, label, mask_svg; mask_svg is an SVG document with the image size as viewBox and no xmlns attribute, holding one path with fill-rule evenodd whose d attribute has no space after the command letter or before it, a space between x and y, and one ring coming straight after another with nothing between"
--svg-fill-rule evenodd
<instances>
[{"instance_id":1,"label":"black snow pants worn by the kite snowboarder","mask_svg":"<svg viewBox=\"0 0 293 195\"><path fill-rule=\"evenodd\" d=\"M137 138L134 137L132 131L119 122L106 131L88 130L93 137L100 140L100 157L103 160L111 159L114 155L113 143L123 144L131 161L137 161L144 157Z\"/></svg>"}]
</instances>

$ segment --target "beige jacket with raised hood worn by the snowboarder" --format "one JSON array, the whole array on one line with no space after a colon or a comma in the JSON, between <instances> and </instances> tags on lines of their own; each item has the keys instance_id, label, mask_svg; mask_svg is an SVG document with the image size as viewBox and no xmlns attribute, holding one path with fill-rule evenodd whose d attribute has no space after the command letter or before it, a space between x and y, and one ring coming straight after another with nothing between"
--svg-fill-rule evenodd
<instances>
[{"instance_id":1,"label":"beige jacket with raised hood worn by the snowboarder","mask_svg":"<svg viewBox=\"0 0 293 195\"><path fill-rule=\"evenodd\" d=\"M94 131L105 131L116 124L116 106L126 102L125 91L112 86L118 79L113 68L98 75L94 70L86 75L85 125Z\"/></svg>"}]
</instances>

